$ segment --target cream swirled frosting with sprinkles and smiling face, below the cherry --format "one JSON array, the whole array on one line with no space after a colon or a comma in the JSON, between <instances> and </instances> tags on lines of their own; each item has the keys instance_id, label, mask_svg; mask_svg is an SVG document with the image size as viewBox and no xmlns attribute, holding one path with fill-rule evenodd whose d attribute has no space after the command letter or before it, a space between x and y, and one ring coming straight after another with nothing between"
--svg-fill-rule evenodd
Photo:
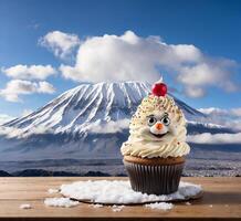
<instances>
[{"instance_id":1,"label":"cream swirled frosting with sprinkles and smiling face, below the cherry","mask_svg":"<svg viewBox=\"0 0 241 221\"><path fill-rule=\"evenodd\" d=\"M124 156L167 158L190 151L185 116L168 95L145 97L132 117L129 134L120 148Z\"/></svg>"}]
</instances>

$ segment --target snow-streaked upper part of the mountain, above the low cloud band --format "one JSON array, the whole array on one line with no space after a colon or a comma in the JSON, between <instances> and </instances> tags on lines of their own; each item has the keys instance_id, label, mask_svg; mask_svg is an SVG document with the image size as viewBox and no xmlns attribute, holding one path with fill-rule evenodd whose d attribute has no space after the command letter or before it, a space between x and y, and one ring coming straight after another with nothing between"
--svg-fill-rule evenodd
<instances>
[{"instance_id":1,"label":"snow-streaked upper part of the mountain, above the low cloud band","mask_svg":"<svg viewBox=\"0 0 241 221\"><path fill-rule=\"evenodd\" d=\"M150 93L150 84L144 82L81 84L29 116L4 126L24 133L32 128L54 133L85 133L91 124L129 119L142 99ZM175 99L188 119L205 117L184 102Z\"/></svg>"}]
</instances>

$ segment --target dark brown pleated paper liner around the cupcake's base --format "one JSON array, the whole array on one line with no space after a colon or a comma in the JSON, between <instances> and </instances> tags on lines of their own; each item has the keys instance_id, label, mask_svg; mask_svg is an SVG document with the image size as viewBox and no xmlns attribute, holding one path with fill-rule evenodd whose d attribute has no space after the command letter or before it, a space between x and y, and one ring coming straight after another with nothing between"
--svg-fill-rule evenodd
<instances>
[{"instance_id":1,"label":"dark brown pleated paper liner around the cupcake's base","mask_svg":"<svg viewBox=\"0 0 241 221\"><path fill-rule=\"evenodd\" d=\"M178 190L185 162L153 166L123 161L133 190L148 194L169 194Z\"/></svg>"}]
</instances>

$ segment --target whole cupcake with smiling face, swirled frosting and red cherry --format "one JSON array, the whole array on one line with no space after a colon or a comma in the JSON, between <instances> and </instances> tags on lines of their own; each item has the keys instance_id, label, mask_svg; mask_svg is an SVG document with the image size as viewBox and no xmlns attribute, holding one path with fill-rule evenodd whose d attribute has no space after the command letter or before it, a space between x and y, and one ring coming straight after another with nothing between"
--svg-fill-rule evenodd
<instances>
[{"instance_id":1,"label":"whole cupcake with smiling face, swirled frosting and red cherry","mask_svg":"<svg viewBox=\"0 0 241 221\"><path fill-rule=\"evenodd\" d=\"M163 82L142 101L130 119L129 134L120 151L132 188L148 194L177 191L190 147L185 116Z\"/></svg>"}]
</instances>

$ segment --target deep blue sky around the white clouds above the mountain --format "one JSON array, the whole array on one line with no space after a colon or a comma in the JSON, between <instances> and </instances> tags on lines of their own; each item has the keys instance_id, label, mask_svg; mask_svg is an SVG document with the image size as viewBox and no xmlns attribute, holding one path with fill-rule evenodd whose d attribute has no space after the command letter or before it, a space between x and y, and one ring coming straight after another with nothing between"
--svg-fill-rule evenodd
<instances>
[{"instance_id":1,"label":"deep blue sky around the white clouds above the mountain","mask_svg":"<svg viewBox=\"0 0 241 221\"><path fill-rule=\"evenodd\" d=\"M81 74L77 81L73 81L73 77L63 77L63 74L59 71L60 65L75 65L76 51L83 42L86 43L86 38L103 36L104 34L122 36L128 30L140 39L150 35L159 36L158 41L167 43L168 49L171 48L170 45L178 44L193 45L196 50L193 53L197 54L197 50L200 51L203 54L202 60L208 61L209 64L214 63L218 71L224 65L223 69L228 69L229 73L227 74L227 71L224 71L221 81L226 82L232 78L232 82L235 83L235 90L223 90L222 87L227 87L227 85L224 83L222 85L221 81L217 82L217 85L219 84L217 86L216 78L212 77L210 81L213 82L210 85L209 83L207 83L208 86L205 83L201 84L202 90L205 90L203 94L200 92L202 96L199 94L200 96L196 97L182 93L182 86L187 86L187 83L184 83L186 80L178 82L177 78L171 77L171 74L177 75L176 72L180 70L179 67L177 70L175 64L168 63L167 66L158 69L164 72L167 83L180 91L177 96L189 105L196 108L238 108L241 106L240 10L241 3L234 0L0 0L0 67L2 70L0 73L0 90L4 90L13 78L18 80L18 77L6 74L4 70L9 67L19 64L28 66L51 65L56 70L55 74L50 74L44 80L31 80L34 83L33 91L35 90L35 93L20 94L21 102L9 102L6 101L6 96L0 96L0 114L20 116L23 110L34 110L56 95L78 85ZM71 51L72 59L60 57L60 54L54 55L54 50L51 50L48 41L45 41L45 44L43 41L40 43L41 38L53 31L78 38L78 46ZM143 50L143 48L139 50ZM228 67L227 63L229 63ZM78 67L76 70L80 71ZM192 75L193 80L197 78L195 73ZM186 73L181 76L189 76L189 74ZM28 77L22 80L30 81ZM50 83L55 92L46 90L44 93L40 93L38 86L40 81ZM190 88L190 82L188 86ZM199 86L198 83L195 90L199 90Z\"/></svg>"}]
</instances>

